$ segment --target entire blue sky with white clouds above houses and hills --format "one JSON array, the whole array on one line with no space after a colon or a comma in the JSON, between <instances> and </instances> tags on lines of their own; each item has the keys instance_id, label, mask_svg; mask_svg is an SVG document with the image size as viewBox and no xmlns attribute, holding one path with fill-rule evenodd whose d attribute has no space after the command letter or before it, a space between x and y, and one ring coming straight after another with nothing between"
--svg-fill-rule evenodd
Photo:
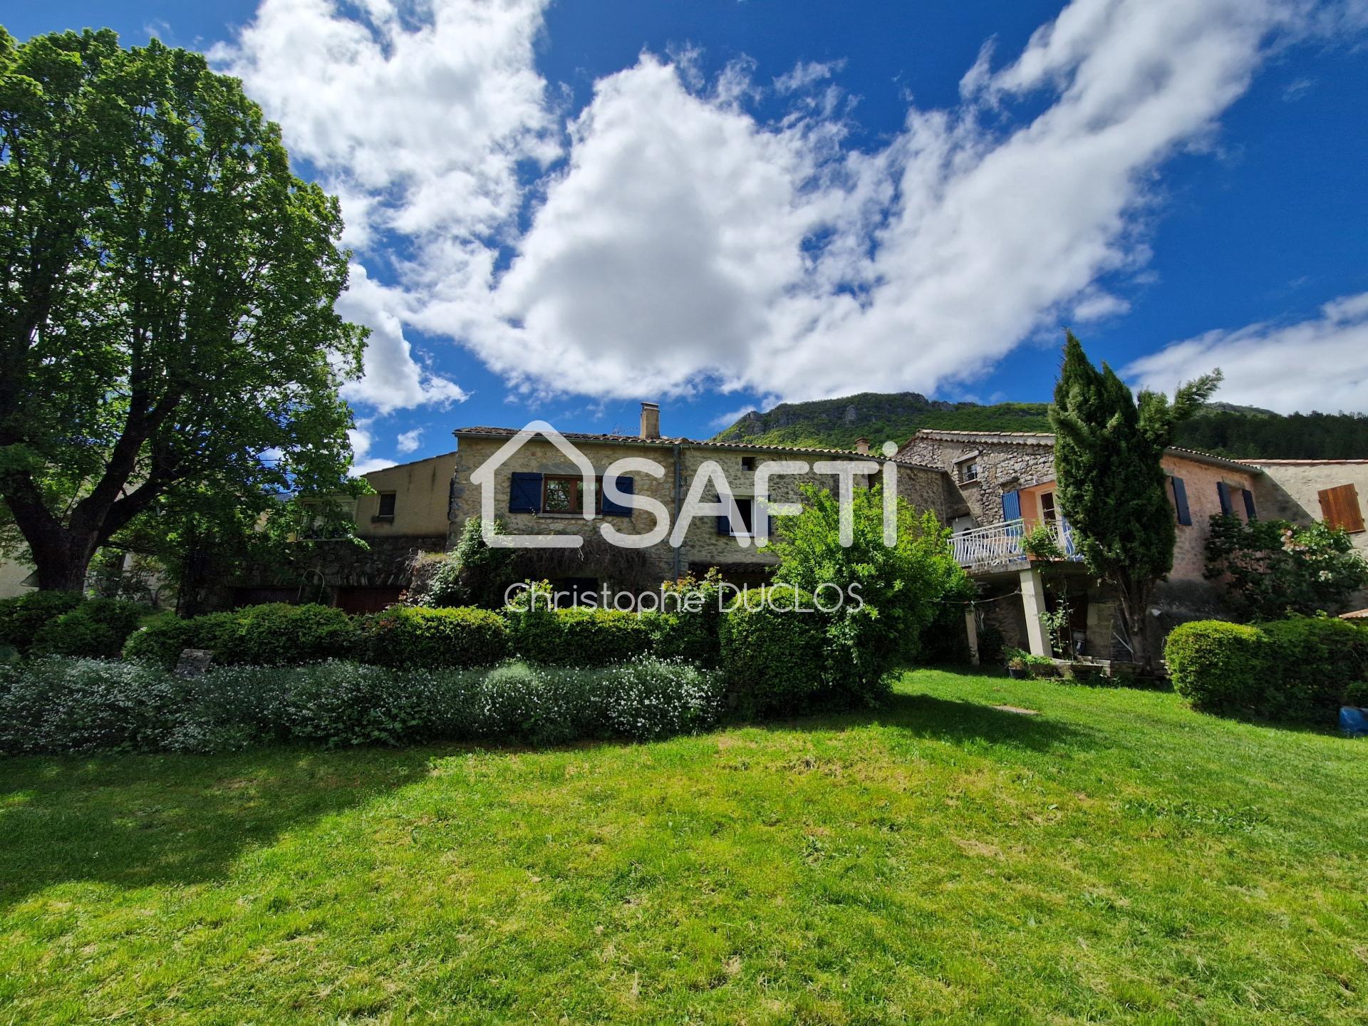
<instances>
[{"instance_id":1,"label":"entire blue sky with white clouds above houses and hills","mask_svg":"<svg viewBox=\"0 0 1368 1026\"><path fill-rule=\"evenodd\" d=\"M209 52L343 200L358 465L852 391L1368 409L1363 0L23 4Z\"/></svg>"}]
</instances>

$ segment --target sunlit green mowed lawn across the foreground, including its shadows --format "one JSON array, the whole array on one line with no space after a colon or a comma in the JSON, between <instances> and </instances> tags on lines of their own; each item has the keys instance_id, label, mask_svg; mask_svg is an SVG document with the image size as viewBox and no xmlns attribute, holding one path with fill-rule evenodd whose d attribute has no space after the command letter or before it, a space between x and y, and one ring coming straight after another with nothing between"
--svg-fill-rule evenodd
<instances>
[{"instance_id":1,"label":"sunlit green mowed lawn across the foreground, including its shadows","mask_svg":"<svg viewBox=\"0 0 1368 1026\"><path fill-rule=\"evenodd\" d=\"M1167 694L0 780L0 1023L1368 1019L1368 746Z\"/></svg>"}]
</instances>

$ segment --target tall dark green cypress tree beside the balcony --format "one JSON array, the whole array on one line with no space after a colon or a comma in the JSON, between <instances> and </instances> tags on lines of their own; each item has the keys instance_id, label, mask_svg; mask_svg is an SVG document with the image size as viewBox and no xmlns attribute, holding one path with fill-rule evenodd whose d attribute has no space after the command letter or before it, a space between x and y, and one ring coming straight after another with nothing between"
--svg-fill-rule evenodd
<instances>
[{"instance_id":1,"label":"tall dark green cypress tree beside the balcony","mask_svg":"<svg viewBox=\"0 0 1368 1026\"><path fill-rule=\"evenodd\" d=\"M1049 408L1059 505L1089 570L1116 586L1131 648L1146 666L1149 601L1174 566L1176 540L1160 460L1176 425L1218 384L1220 371L1213 371L1181 386L1172 401L1152 391L1135 397L1111 367L1093 367L1074 332L1066 334Z\"/></svg>"}]
</instances>

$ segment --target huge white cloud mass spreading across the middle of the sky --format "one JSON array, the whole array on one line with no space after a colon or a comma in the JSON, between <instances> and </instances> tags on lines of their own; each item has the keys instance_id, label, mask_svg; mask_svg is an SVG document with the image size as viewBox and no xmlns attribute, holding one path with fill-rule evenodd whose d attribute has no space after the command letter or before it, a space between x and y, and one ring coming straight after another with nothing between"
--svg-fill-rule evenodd
<instances>
[{"instance_id":1,"label":"huge white cloud mass spreading across the middle of the sky","mask_svg":"<svg viewBox=\"0 0 1368 1026\"><path fill-rule=\"evenodd\" d=\"M390 282L358 274L347 308L376 330L352 394L382 409L462 394L406 328L538 395L973 380L1042 328L1124 312L1163 161L1324 21L1304 0L1073 0L866 150L839 64L776 79L791 105L765 120L747 62L709 83L689 53L599 79L562 131L542 7L264 0L215 55Z\"/></svg>"}]
</instances>

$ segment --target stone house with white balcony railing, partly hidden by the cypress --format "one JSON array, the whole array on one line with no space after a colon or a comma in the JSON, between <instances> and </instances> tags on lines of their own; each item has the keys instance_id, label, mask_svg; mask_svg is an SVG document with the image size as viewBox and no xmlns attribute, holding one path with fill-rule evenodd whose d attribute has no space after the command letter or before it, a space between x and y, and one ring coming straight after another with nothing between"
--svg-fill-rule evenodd
<instances>
[{"instance_id":1,"label":"stone house with white balcony railing, partly hidden by the cypress","mask_svg":"<svg viewBox=\"0 0 1368 1026\"><path fill-rule=\"evenodd\" d=\"M1007 644L1051 653L1041 613L1067 607L1074 650L1094 658L1130 658L1114 590L1079 561L1055 497L1055 436L1031 432L918 431L899 458L940 468L951 491L945 523L956 557L979 588L971 632L986 625ZM1152 613L1163 636L1186 620L1223 616L1220 588L1202 576L1213 513L1257 516L1257 466L1170 449L1163 457L1178 540L1174 569L1155 591ZM1044 524L1066 558L1036 562L1022 538Z\"/></svg>"}]
</instances>

